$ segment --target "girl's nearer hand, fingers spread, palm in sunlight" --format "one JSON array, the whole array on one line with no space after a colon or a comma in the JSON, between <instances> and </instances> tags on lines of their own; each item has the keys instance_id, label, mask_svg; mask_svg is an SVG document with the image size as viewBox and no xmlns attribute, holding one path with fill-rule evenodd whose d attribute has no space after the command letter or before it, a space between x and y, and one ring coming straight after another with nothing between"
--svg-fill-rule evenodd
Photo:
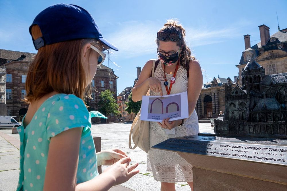
<instances>
[{"instance_id":1,"label":"girl's nearer hand, fingers spread, palm in sunlight","mask_svg":"<svg viewBox=\"0 0 287 191\"><path fill-rule=\"evenodd\" d=\"M102 173L111 175L113 179L115 180L115 184L122 184L129 180L132 176L139 173L139 170L134 170L139 164L135 163L131 166L129 166L129 162L131 162L130 157L125 157L113 164L112 166L109 166L104 170Z\"/></svg>"}]
</instances>

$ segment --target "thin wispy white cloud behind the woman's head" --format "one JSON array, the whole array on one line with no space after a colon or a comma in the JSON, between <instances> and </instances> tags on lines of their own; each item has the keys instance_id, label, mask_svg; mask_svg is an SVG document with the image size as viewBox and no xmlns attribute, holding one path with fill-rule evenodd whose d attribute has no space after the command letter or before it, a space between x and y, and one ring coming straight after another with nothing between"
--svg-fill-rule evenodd
<instances>
[{"instance_id":1,"label":"thin wispy white cloud behind the woman's head","mask_svg":"<svg viewBox=\"0 0 287 191\"><path fill-rule=\"evenodd\" d=\"M202 26L200 28L185 27L186 42L191 47L204 46L228 41L240 36L240 28L248 23L241 21L229 27ZM117 30L107 35L107 39L119 48L120 54L126 58L155 53L156 33L162 27L161 21L129 21L115 23Z\"/></svg>"}]
</instances>

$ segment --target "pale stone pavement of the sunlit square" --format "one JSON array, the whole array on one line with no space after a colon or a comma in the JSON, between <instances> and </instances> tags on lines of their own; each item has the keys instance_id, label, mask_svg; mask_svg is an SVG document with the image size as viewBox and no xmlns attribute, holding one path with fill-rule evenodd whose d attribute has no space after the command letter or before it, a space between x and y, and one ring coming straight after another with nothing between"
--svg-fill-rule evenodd
<instances>
[{"instance_id":1,"label":"pale stone pavement of the sunlit square","mask_svg":"<svg viewBox=\"0 0 287 191\"><path fill-rule=\"evenodd\" d=\"M114 186L110 191L160 190L160 182L155 181L152 173L146 171L146 153L139 148L129 149L131 123L108 123L92 125L94 137L101 137L102 150L120 148L131 157L131 164L139 162L139 174L129 181ZM199 123L200 133L213 133L210 123ZM11 134L11 129L0 130L0 191L16 190L19 176L19 134ZM107 166L102 166L104 170ZM190 190L186 182L176 183L176 190Z\"/></svg>"}]
</instances>

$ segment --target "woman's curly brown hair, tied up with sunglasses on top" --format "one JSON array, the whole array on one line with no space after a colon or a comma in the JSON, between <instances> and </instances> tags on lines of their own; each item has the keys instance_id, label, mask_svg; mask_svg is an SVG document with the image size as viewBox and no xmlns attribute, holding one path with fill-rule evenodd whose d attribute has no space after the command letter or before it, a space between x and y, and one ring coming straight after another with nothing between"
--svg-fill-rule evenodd
<instances>
[{"instance_id":1,"label":"woman's curly brown hair, tied up with sunglasses on top","mask_svg":"<svg viewBox=\"0 0 287 191\"><path fill-rule=\"evenodd\" d=\"M168 20L164 24L164 27L160 29L160 31L164 32L177 32L181 34L181 39L177 41L177 45L181 47L181 53L179 55L180 64L185 68L186 70L189 69L189 62L191 60L195 60L194 56L191 56L191 50L188 46L186 46L185 43L185 29L180 25L176 20ZM170 41L169 38L166 38L164 41ZM159 46L160 40L156 39L156 44Z\"/></svg>"}]
</instances>

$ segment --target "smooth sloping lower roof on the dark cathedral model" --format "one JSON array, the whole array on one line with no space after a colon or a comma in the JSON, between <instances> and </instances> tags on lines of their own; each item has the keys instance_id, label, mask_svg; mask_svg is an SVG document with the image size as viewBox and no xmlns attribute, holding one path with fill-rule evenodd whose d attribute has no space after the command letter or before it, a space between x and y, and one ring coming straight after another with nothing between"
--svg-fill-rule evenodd
<instances>
[{"instance_id":1,"label":"smooth sloping lower roof on the dark cathedral model","mask_svg":"<svg viewBox=\"0 0 287 191\"><path fill-rule=\"evenodd\" d=\"M280 110L281 104L275 98L259 99L253 111Z\"/></svg>"}]
</instances>

